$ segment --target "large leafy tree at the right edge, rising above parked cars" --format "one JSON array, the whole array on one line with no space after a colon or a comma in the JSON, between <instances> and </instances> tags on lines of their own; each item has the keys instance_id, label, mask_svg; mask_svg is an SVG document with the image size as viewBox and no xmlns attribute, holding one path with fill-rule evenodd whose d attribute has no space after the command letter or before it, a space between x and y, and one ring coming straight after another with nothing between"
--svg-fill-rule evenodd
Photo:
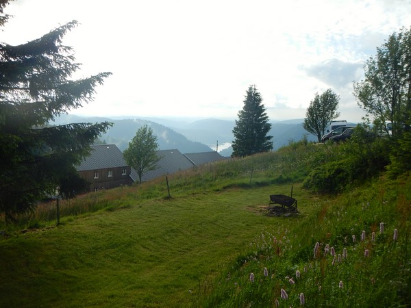
<instances>
[{"instance_id":1,"label":"large leafy tree at the right edge, rising above parked cars","mask_svg":"<svg viewBox=\"0 0 411 308\"><path fill-rule=\"evenodd\" d=\"M393 123L393 136L410 125L411 31L392 34L364 65L364 80L354 83L358 105L383 127Z\"/></svg>"}]
</instances>

